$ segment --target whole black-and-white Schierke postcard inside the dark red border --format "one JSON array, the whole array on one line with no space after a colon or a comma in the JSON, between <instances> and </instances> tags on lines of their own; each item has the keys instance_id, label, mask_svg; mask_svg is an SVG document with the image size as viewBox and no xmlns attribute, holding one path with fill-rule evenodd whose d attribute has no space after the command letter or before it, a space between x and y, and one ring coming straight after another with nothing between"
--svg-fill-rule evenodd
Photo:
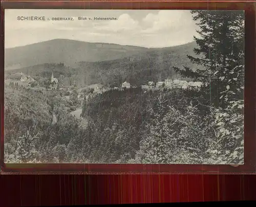
<instances>
[{"instance_id":1,"label":"whole black-and-white Schierke postcard inside the dark red border","mask_svg":"<svg viewBox=\"0 0 256 207\"><path fill-rule=\"evenodd\" d=\"M244 164L244 11L5 10L5 163Z\"/></svg>"}]
</instances>

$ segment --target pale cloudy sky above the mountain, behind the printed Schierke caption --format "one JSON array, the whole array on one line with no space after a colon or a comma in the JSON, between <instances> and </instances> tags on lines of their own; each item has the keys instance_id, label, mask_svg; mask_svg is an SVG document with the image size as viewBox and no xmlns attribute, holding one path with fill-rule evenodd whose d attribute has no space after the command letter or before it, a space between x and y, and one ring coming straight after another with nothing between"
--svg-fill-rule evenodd
<instances>
[{"instance_id":1,"label":"pale cloudy sky above the mountain, behind the printed Schierke caption","mask_svg":"<svg viewBox=\"0 0 256 207\"><path fill-rule=\"evenodd\" d=\"M18 16L45 16L46 21L22 21ZM92 20L78 20L78 17ZM53 21L52 17L73 17ZM115 17L117 20L94 20ZM167 47L193 41L196 22L189 10L47 10L6 9L5 47L51 39L72 39L143 47Z\"/></svg>"}]
</instances>

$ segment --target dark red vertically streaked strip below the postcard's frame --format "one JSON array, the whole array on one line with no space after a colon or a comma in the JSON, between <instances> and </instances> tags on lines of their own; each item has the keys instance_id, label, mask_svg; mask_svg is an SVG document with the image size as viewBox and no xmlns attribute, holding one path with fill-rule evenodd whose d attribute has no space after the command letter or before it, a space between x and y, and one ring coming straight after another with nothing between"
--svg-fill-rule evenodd
<instances>
[{"instance_id":1,"label":"dark red vertically streaked strip below the postcard's frame","mask_svg":"<svg viewBox=\"0 0 256 207\"><path fill-rule=\"evenodd\" d=\"M256 175L1 175L0 206L256 200Z\"/></svg>"}]
</instances>

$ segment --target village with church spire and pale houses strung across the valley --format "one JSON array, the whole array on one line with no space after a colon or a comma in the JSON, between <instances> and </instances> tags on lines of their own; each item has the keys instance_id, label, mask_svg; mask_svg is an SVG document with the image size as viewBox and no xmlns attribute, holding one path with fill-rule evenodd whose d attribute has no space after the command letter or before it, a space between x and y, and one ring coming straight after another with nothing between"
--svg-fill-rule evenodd
<instances>
[{"instance_id":1,"label":"village with church spire and pale houses strung across the valley","mask_svg":"<svg viewBox=\"0 0 256 207\"><path fill-rule=\"evenodd\" d=\"M83 101L88 100L89 97L92 97L96 94L102 94L103 92L109 90L125 90L130 88L137 88L137 86L131 85L129 82L123 82L119 87L108 87L103 86L102 84L92 84L86 87L78 88L77 86L63 86L59 83L59 80L54 77L54 72L51 72L51 77L49 77L49 85L46 87L39 86L38 81L36 81L32 76L24 74L23 72L17 72L6 77L5 84L9 85L12 88L24 87L31 89L33 91L59 91L59 98L64 98L67 100L72 100L74 104L71 104L67 111L77 118L80 117L81 107ZM181 89L196 89L200 88L202 85L201 82L187 82L182 80L172 80L165 79L164 81L153 82L148 81L147 84L141 85L141 89L144 91L147 90L163 90L163 89L172 89L172 88L181 88ZM77 115L76 112L79 112Z\"/></svg>"}]
</instances>

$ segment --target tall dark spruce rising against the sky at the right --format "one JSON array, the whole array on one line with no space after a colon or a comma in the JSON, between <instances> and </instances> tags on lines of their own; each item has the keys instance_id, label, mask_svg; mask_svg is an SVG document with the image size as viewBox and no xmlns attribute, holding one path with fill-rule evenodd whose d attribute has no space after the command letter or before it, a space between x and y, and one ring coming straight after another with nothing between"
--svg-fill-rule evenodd
<instances>
[{"instance_id":1,"label":"tall dark spruce rising against the sky at the right","mask_svg":"<svg viewBox=\"0 0 256 207\"><path fill-rule=\"evenodd\" d=\"M175 71L203 82L208 105L226 107L230 100L243 99L244 12L194 10L191 13L199 27L199 37L194 37L197 57L188 58L204 69L175 67Z\"/></svg>"}]
</instances>

